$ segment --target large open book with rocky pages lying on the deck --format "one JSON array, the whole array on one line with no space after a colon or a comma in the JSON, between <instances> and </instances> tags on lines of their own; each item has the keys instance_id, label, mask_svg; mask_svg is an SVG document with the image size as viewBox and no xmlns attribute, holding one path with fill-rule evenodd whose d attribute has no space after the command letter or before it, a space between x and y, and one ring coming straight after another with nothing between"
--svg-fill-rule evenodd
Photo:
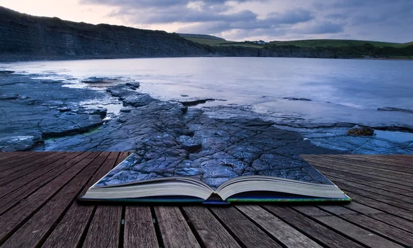
<instances>
[{"instance_id":1,"label":"large open book with rocky pages lying on the deck","mask_svg":"<svg viewBox=\"0 0 413 248\"><path fill-rule=\"evenodd\" d=\"M134 153L97 181L81 201L202 202L222 204L245 201L351 201L334 183L304 162L299 168L270 168L268 175L231 173L229 164L201 168L176 166L165 172L145 168ZM222 170L231 178L222 178ZM278 171L277 171L278 170ZM287 171L286 171L287 170ZM236 171L236 170L235 170ZM211 174L218 177L209 177ZM295 177L295 178L294 178Z\"/></svg>"}]
</instances>

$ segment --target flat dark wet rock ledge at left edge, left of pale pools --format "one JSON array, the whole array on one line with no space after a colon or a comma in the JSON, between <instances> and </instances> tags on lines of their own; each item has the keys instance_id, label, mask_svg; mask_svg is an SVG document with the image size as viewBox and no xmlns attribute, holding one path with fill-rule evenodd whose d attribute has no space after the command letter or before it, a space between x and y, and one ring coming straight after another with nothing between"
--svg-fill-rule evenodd
<instances>
[{"instance_id":1,"label":"flat dark wet rock ledge at left edge, left of pale pools","mask_svg":"<svg viewBox=\"0 0 413 248\"><path fill-rule=\"evenodd\" d=\"M9 80L21 83L8 84ZM61 87L51 80L40 83L19 74L0 78L0 82L4 82L1 91L5 95L25 95L1 101L0 150L38 148L44 139L86 133L104 123L106 109L90 109L78 102L106 98L105 93Z\"/></svg>"}]
</instances>

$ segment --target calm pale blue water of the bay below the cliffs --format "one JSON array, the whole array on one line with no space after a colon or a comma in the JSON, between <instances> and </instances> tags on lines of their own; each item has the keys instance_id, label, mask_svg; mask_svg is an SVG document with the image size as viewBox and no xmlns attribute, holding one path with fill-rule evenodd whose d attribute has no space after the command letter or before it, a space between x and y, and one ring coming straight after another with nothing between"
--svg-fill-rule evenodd
<instances>
[{"instance_id":1,"label":"calm pale blue water of the bay below the cliffs","mask_svg":"<svg viewBox=\"0 0 413 248\"><path fill-rule=\"evenodd\" d=\"M248 106L274 120L413 126L412 113L377 111L413 109L412 60L139 58L1 63L0 69L63 79L69 87L85 87L80 81L92 76L129 77L155 98L216 98L226 101L204 106Z\"/></svg>"}]
</instances>

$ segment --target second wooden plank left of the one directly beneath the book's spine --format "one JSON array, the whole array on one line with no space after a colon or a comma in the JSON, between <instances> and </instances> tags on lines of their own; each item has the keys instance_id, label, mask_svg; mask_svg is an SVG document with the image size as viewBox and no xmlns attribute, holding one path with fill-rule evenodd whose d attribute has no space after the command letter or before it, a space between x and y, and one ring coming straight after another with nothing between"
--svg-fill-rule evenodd
<instances>
[{"instance_id":1,"label":"second wooden plank left of the one directly beneath the book's spine","mask_svg":"<svg viewBox=\"0 0 413 248\"><path fill-rule=\"evenodd\" d=\"M157 206L154 208L165 248L200 247L179 207Z\"/></svg>"}]
</instances>

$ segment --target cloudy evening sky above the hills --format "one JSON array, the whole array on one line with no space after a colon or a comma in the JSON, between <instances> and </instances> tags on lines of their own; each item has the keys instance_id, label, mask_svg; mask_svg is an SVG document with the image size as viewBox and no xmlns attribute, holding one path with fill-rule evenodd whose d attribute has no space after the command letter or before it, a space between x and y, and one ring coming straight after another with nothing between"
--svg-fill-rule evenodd
<instances>
[{"instance_id":1,"label":"cloudy evening sky above the hills","mask_svg":"<svg viewBox=\"0 0 413 248\"><path fill-rule=\"evenodd\" d=\"M230 41L413 41L413 0L0 0L36 16Z\"/></svg>"}]
</instances>

